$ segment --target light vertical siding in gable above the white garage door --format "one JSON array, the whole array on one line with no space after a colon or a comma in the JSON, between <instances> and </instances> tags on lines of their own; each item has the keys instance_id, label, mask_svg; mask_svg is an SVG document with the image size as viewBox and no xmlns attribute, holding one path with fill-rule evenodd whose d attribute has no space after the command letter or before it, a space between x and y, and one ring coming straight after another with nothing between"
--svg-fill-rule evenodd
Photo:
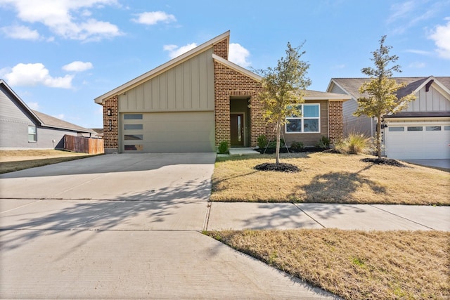
<instances>
[{"instance_id":1,"label":"light vertical siding in gable above the white garage door","mask_svg":"<svg viewBox=\"0 0 450 300\"><path fill-rule=\"evenodd\" d=\"M404 112L442 112L450 110L450 100L445 98L437 89L430 86L425 91L425 86L416 94L416 100L409 103Z\"/></svg>"}]
</instances>

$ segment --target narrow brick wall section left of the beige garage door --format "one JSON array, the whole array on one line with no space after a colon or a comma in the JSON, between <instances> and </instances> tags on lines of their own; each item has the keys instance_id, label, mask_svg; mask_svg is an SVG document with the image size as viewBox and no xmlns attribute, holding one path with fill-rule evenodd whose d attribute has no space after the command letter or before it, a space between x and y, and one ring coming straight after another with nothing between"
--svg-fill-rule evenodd
<instances>
[{"instance_id":1,"label":"narrow brick wall section left of the beige garage door","mask_svg":"<svg viewBox=\"0 0 450 300\"><path fill-rule=\"evenodd\" d=\"M106 99L105 104L103 104L103 141L105 143L105 153L117 152L119 150L118 99L118 96L113 96ZM110 116L108 116L108 108L111 109Z\"/></svg>"}]
</instances>

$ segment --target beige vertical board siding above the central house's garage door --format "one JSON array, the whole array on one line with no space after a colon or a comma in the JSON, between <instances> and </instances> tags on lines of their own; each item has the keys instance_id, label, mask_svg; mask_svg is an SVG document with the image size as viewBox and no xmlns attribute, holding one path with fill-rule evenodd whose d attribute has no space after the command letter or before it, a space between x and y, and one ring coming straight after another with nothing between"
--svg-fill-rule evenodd
<instances>
[{"instance_id":1,"label":"beige vertical board siding above the central house's garage door","mask_svg":"<svg viewBox=\"0 0 450 300\"><path fill-rule=\"evenodd\" d=\"M213 110L212 48L119 95L120 112Z\"/></svg>"}]
</instances>

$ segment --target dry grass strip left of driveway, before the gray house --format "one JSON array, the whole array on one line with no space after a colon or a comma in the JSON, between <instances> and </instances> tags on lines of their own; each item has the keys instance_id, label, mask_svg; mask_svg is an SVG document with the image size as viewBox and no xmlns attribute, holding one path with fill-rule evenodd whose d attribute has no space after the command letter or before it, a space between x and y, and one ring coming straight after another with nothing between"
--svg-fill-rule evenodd
<instances>
[{"instance_id":1,"label":"dry grass strip left of driveway, before the gray house","mask_svg":"<svg viewBox=\"0 0 450 300\"><path fill-rule=\"evenodd\" d=\"M91 156L61 150L0 150L0 174Z\"/></svg>"}]
</instances>

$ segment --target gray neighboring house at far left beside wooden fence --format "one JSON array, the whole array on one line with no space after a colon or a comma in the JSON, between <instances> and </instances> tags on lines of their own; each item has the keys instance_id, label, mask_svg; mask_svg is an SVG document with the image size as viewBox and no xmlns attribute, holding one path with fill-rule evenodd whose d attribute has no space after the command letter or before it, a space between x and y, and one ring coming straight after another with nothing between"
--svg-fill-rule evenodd
<instances>
[{"instance_id":1,"label":"gray neighboring house at far left beside wooden fence","mask_svg":"<svg viewBox=\"0 0 450 300\"><path fill-rule=\"evenodd\" d=\"M0 79L0 148L64 148L63 137L91 136L95 131L31 110Z\"/></svg>"}]
</instances>

